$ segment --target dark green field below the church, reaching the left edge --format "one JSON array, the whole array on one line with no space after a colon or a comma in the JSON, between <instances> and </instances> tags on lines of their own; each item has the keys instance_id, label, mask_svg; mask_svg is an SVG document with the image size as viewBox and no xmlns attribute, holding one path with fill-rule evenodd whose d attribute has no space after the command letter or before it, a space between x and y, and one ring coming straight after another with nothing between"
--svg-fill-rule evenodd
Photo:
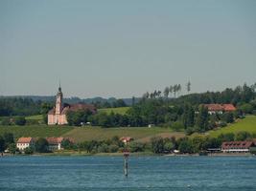
<instances>
[{"instance_id":1,"label":"dark green field below the church, reaching the left edge","mask_svg":"<svg viewBox=\"0 0 256 191\"><path fill-rule=\"evenodd\" d=\"M0 135L3 135L4 133L12 133L14 138L59 137L73 129L74 127L57 127L46 125L0 126Z\"/></svg>"}]
</instances>

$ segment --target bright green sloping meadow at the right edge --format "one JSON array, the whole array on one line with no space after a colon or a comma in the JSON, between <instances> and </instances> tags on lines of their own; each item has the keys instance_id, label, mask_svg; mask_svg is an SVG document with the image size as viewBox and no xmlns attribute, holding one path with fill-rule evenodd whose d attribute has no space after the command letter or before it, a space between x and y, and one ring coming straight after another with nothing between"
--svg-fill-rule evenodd
<instances>
[{"instance_id":1,"label":"bright green sloping meadow at the right edge","mask_svg":"<svg viewBox=\"0 0 256 191\"><path fill-rule=\"evenodd\" d=\"M247 116L244 119L240 119L234 124L228 125L227 127L210 131L208 134L210 137L218 137L220 134L226 134L226 133L238 133L241 131L246 131L251 134L256 134L256 116Z\"/></svg>"}]
</instances>

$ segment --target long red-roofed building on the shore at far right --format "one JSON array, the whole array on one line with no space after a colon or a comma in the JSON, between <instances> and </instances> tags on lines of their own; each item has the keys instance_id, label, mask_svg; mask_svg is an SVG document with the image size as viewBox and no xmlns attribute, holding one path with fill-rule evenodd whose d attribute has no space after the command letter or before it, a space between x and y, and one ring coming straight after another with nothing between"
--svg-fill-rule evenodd
<instances>
[{"instance_id":1,"label":"long red-roofed building on the shore at far right","mask_svg":"<svg viewBox=\"0 0 256 191\"><path fill-rule=\"evenodd\" d=\"M251 148L255 148L254 141L228 141L222 142L221 151L223 153L248 153Z\"/></svg>"}]
</instances>

